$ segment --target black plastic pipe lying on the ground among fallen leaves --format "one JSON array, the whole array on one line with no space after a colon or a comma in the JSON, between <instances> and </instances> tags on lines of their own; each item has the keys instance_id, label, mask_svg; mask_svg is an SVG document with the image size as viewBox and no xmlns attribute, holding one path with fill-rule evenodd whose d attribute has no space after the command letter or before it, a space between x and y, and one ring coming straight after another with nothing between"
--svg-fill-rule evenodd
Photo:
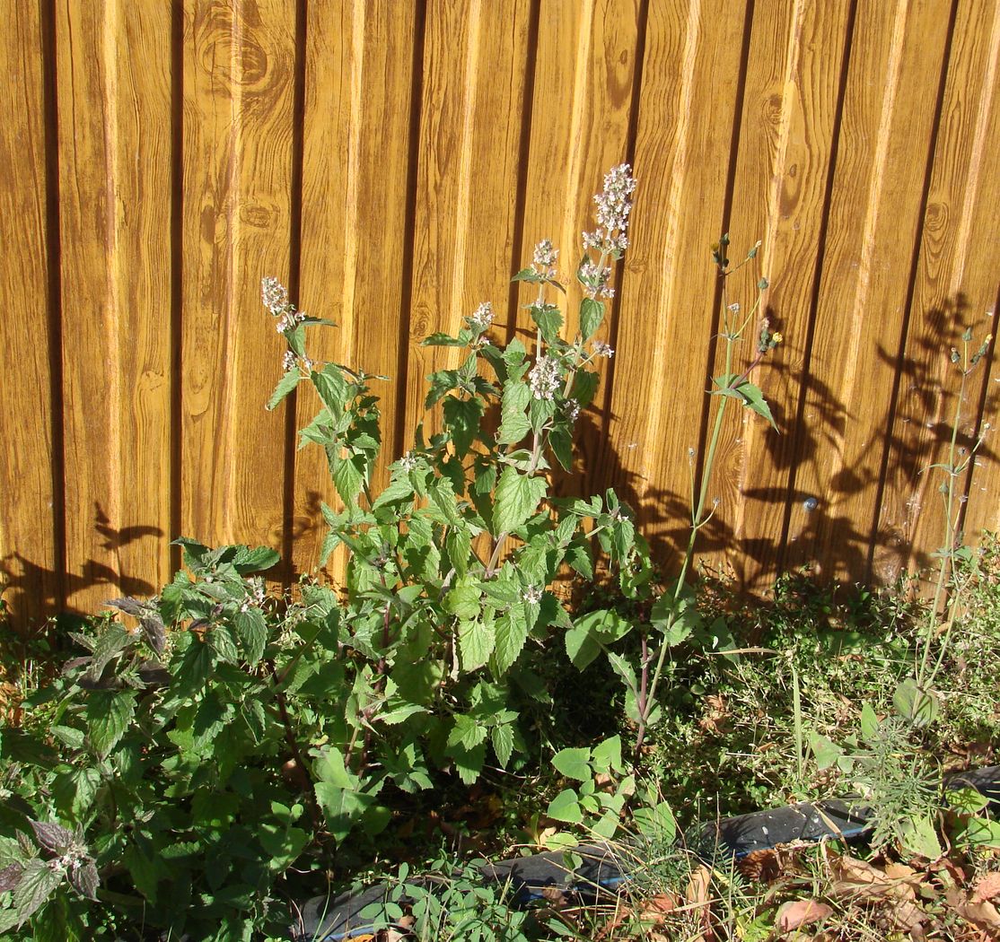
<instances>
[{"instance_id":1,"label":"black plastic pipe lying on the ground among fallen leaves","mask_svg":"<svg viewBox=\"0 0 1000 942\"><path fill-rule=\"evenodd\" d=\"M946 790L963 787L975 788L1000 805L1000 765L962 772L945 781ZM739 859L784 844L862 837L870 817L870 808L853 804L849 799L803 802L725 818L702 828L689 846L706 860ZM574 847L572 853L582 861L574 870L567 869L562 851L549 851L486 863L481 867L483 880L509 886L513 902L528 905L545 899L546 890L550 894L572 893L582 901L592 901L602 893L617 893L629 878L630 860L623 858L620 850L616 853L610 844ZM341 942L373 933L374 927L361 913L373 903L383 902L393 886L381 882L334 899L310 900L293 927L293 942Z\"/></svg>"}]
</instances>

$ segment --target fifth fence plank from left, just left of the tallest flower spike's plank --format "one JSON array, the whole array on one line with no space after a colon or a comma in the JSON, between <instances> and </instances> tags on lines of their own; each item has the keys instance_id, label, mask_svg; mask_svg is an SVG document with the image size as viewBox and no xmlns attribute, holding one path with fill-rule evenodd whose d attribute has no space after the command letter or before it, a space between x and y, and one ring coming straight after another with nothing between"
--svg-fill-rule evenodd
<instances>
[{"instance_id":1,"label":"fifth fence plank from left, just left of the tallest flower spike's plank","mask_svg":"<svg viewBox=\"0 0 1000 942\"><path fill-rule=\"evenodd\" d=\"M427 11L408 431L423 417L426 377L458 363L457 351L420 341L435 331L454 334L480 303L500 306L509 294L529 13L528 0Z\"/></svg>"}]
</instances>

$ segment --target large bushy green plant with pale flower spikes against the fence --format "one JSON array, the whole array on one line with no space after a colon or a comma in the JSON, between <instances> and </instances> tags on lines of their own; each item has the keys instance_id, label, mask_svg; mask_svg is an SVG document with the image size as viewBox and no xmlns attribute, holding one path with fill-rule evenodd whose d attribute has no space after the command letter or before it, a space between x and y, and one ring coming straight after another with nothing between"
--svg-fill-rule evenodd
<instances>
[{"instance_id":1,"label":"large bushy green plant with pale flower spikes against the fence","mask_svg":"<svg viewBox=\"0 0 1000 942\"><path fill-rule=\"evenodd\" d=\"M308 332L328 322L265 280L287 345L266 408L315 394L300 444L323 450L339 496L322 507L322 561L343 547L344 584L306 581L276 598L256 574L279 561L272 549L182 537L184 569L158 595L116 599L119 616L74 635L82 656L25 703L39 721L2 741L15 799L0 817L7 925L54 920L79 936L138 918L175 936L249 938L274 924L293 865L322 872L338 848L378 834L392 795L537 763L518 707L550 637L573 627L553 583L565 566L593 577L596 541L623 581L646 573L651 591L648 548L612 491L550 492L548 471L573 463L593 361L610 355L587 347L604 315L593 297L581 333L560 336L565 319L544 297L565 294L554 257L548 246L518 277L539 292L531 349L493 343L488 305L456 336L427 339L457 364L429 377L439 431L418 429L381 493L372 383L384 378L312 361ZM603 263L602 250L582 282L591 295L609 292ZM487 426L495 407L499 435ZM588 636L613 643L629 628L606 620ZM588 767L610 767L602 755ZM621 807L597 793L580 802ZM95 896L101 916L87 907Z\"/></svg>"}]
</instances>

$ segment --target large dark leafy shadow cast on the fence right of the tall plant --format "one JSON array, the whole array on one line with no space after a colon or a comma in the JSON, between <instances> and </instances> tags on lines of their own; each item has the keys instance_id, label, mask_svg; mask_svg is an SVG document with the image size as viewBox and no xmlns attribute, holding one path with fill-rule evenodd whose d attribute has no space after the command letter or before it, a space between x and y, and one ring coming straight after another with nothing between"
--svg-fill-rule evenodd
<instances>
[{"instance_id":1,"label":"large dark leafy shadow cast on the fence right of the tall plant","mask_svg":"<svg viewBox=\"0 0 1000 942\"><path fill-rule=\"evenodd\" d=\"M772 325L780 327L776 312L768 311L768 316ZM882 434L878 443L881 462L851 462L845 458L844 442L850 441L851 425L858 417L851 414L830 386L814 376L793 373L793 368L780 359L768 364L768 396L782 434L765 431L758 441L766 453L768 476L773 482L756 486L741 481L738 497L747 502L744 511L721 505L699 530L696 543L697 553L715 559L726 554L732 569L729 575L740 591L759 593L785 569L810 560L819 563L821 577L843 573L842 577L851 582L874 579L888 583L908 565L918 569L930 565L930 549L936 545L914 547L912 525L886 525L881 514L868 521L858 520L848 512L854 498L865 491L878 507L891 496L890 488L892 499L905 503L906 490L926 476L928 466L941 461L942 450L950 442L950 414L947 410L942 413L940 404L949 398L953 402L955 391L947 383L954 386L955 378L946 377L942 392L941 362L969 324L967 301L961 294L956 295L928 312L926 318L928 323L920 326L919 335L913 335L918 326L910 326L905 355L884 347L871 352L871 356L896 371L899 390L896 397L887 389L884 395L871 400L870 405L880 410L873 425ZM992 349L986 358L987 367L991 354ZM988 384L986 406L980 414L979 394L986 380L978 372L974 377L957 437L960 455L962 450L968 452L979 434L977 417L992 415L1000 402L1000 390ZM800 412L798 404L803 395ZM798 421L799 415L802 421ZM657 487L631 471L611 443L603 439L602 430L608 427L609 418L617 417L608 417L597 408L581 417L582 448L576 456L579 467L559 475L557 491L581 492L579 484L587 479L584 466L592 456L599 457L601 484L613 486L636 510L639 529L647 535L654 559L665 574L675 573L690 533L690 497ZM926 434L911 434L907 427L917 422L926 428ZM984 442L977 453L978 462L996 459L989 442ZM840 467L831 472L831 462ZM804 469L811 469L811 473L803 473ZM806 490L799 482L808 479L825 480L826 492ZM752 480L750 473L745 480ZM709 499L711 496L710 488ZM747 518L755 521L756 531L745 525ZM762 532L765 528L770 531Z\"/></svg>"}]
</instances>

